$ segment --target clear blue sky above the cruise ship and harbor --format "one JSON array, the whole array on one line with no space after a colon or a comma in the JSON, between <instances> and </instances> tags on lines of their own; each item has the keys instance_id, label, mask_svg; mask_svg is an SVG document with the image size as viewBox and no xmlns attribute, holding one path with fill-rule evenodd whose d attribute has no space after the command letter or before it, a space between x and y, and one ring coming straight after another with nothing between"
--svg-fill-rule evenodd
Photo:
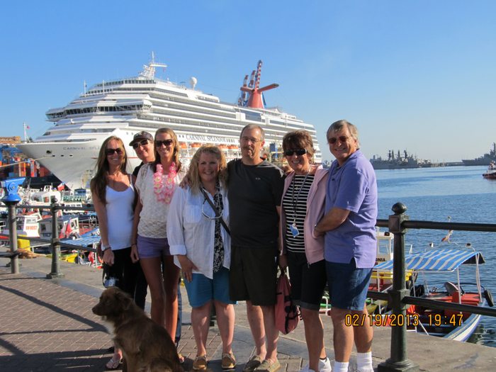
<instances>
[{"instance_id":1,"label":"clear blue sky above the cruise ship and harbor","mask_svg":"<svg viewBox=\"0 0 496 372\"><path fill-rule=\"evenodd\" d=\"M38 137L49 108L150 60L171 81L235 102L261 85L317 128L359 128L372 157L476 157L496 141L496 1L9 1L0 13L0 135Z\"/></svg>"}]
</instances>

